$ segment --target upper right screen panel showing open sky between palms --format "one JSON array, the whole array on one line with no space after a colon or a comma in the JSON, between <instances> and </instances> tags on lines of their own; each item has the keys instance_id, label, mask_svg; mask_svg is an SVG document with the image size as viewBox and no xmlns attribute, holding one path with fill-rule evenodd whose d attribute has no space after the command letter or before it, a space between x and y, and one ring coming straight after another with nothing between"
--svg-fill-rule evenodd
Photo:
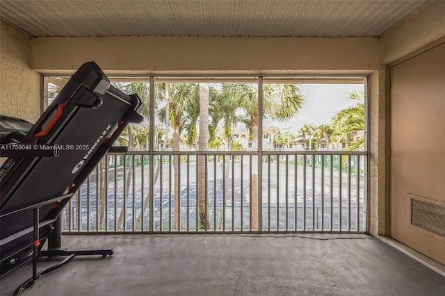
<instances>
[{"instance_id":1,"label":"upper right screen panel showing open sky between palms","mask_svg":"<svg viewBox=\"0 0 445 296\"><path fill-rule=\"evenodd\" d=\"M364 150L363 80L321 82L265 79L263 151Z\"/></svg>"}]
</instances>

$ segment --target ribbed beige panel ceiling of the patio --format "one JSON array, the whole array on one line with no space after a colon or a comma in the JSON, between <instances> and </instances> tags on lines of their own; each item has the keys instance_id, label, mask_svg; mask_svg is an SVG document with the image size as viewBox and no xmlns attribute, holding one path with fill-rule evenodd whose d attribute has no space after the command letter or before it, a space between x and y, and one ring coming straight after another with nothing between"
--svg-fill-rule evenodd
<instances>
[{"instance_id":1,"label":"ribbed beige panel ceiling of the patio","mask_svg":"<svg viewBox=\"0 0 445 296\"><path fill-rule=\"evenodd\" d=\"M30 36L378 37L421 0L1 0Z\"/></svg>"}]
</instances>

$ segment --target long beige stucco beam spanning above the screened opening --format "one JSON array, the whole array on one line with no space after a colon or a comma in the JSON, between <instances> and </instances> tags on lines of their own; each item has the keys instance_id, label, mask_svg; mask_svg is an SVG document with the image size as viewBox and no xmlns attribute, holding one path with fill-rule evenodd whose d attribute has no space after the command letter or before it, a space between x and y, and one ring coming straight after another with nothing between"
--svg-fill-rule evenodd
<instances>
[{"instance_id":1,"label":"long beige stucco beam spanning above the screened opening","mask_svg":"<svg viewBox=\"0 0 445 296\"><path fill-rule=\"evenodd\" d=\"M108 74L370 73L377 38L35 38L32 67L72 72L95 60Z\"/></svg>"}]
</instances>

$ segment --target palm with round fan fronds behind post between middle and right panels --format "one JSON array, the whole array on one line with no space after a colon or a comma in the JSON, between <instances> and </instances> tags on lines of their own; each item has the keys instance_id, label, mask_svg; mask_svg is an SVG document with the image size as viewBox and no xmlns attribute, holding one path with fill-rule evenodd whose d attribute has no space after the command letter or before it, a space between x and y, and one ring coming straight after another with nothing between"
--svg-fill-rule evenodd
<instances>
[{"instance_id":1,"label":"palm with round fan fronds behind post between middle and right panels","mask_svg":"<svg viewBox=\"0 0 445 296\"><path fill-rule=\"evenodd\" d=\"M252 151L258 147L258 123L259 116L266 114L272 120L280 122L290 120L297 115L302 108L304 99L300 92L300 87L295 84L271 84L263 86L263 112L258 112L258 91L250 83L231 83L223 87L223 97L227 101L229 110L241 111L242 121L248 127L252 139ZM235 115L233 112L232 115ZM261 148L260 148L261 149ZM253 230L258 227L258 160L252 158L252 217L251 227Z\"/></svg>"}]
</instances>

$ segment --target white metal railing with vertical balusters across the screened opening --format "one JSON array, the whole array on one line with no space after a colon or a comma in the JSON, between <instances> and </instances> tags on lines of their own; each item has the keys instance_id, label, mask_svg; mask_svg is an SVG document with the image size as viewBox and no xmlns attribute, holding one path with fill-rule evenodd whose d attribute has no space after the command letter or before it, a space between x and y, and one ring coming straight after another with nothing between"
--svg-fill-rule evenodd
<instances>
[{"instance_id":1,"label":"white metal railing with vertical balusters across the screened opening","mask_svg":"<svg viewBox=\"0 0 445 296\"><path fill-rule=\"evenodd\" d=\"M366 163L345 151L108 154L65 207L63 229L366 232Z\"/></svg>"}]
</instances>

